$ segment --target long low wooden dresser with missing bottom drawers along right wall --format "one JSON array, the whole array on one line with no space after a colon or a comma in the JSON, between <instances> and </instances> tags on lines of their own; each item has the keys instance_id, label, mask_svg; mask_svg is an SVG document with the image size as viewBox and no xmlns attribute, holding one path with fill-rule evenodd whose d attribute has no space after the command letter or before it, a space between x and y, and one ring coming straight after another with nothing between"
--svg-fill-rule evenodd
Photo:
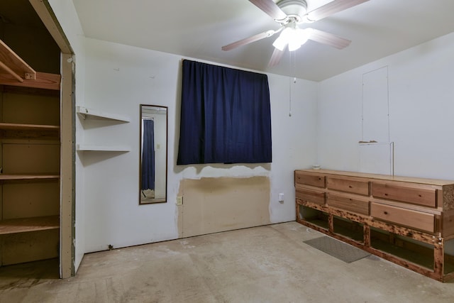
<instances>
[{"instance_id":1,"label":"long low wooden dresser with missing bottom drawers along right wall","mask_svg":"<svg viewBox=\"0 0 454 303\"><path fill-rule=\"evenodd\" d=\"M454 278L454 181L295 170L297 222L445 282Z\"/></svg>"}]
</instances>

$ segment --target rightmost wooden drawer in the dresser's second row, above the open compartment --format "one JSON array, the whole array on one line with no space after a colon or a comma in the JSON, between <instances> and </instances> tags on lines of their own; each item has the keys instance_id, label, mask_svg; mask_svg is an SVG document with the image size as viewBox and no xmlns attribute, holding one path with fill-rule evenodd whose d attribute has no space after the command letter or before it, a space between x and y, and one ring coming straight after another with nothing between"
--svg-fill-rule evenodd
<instances>
[{"instance_id":1,"label":"rightmost wooden drawer in the dresser's second row, above the open compartment","mask_svg":"<svg viewBox=\"0 0 454 303\"><path fill-rule=\"evenodd\" d=\"M435 232L434 214L372 202L370 204L370 215L376 219L420 229L421 231Z\"/></svg>"}]
</instances>

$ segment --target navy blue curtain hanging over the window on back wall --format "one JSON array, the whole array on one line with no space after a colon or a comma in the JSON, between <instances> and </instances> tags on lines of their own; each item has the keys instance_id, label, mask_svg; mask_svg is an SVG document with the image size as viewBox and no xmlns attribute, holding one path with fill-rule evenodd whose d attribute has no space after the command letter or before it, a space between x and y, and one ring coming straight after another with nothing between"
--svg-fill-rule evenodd
<instances>
[{"instance_id":1,"label":"navy blue curtain hanging over the window on back wall","mask_svg":"<svg viewBox=\"0 0 454 303\"><path fill-rule=\"evenodd\" d=\"M183 61L177 164L271 162L267 75Z\"/></svg>"}]
</instances>

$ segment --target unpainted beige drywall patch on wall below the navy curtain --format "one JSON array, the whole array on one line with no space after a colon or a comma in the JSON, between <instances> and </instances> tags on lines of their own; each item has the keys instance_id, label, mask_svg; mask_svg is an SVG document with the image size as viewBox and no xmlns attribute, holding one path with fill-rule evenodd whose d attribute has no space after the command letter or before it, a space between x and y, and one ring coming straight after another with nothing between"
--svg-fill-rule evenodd
<instances>
[{"instance_id":1,"label":"unpainted beige drywall patch on wall below the navy curtain","mask_svg":"<svg viewBox=\"0 0 454 303\"><path fill-rule=\"evenodd\" d=\"M270 224L268 177L184 179L179 237Z\"/></svg>"}]
</instances>

